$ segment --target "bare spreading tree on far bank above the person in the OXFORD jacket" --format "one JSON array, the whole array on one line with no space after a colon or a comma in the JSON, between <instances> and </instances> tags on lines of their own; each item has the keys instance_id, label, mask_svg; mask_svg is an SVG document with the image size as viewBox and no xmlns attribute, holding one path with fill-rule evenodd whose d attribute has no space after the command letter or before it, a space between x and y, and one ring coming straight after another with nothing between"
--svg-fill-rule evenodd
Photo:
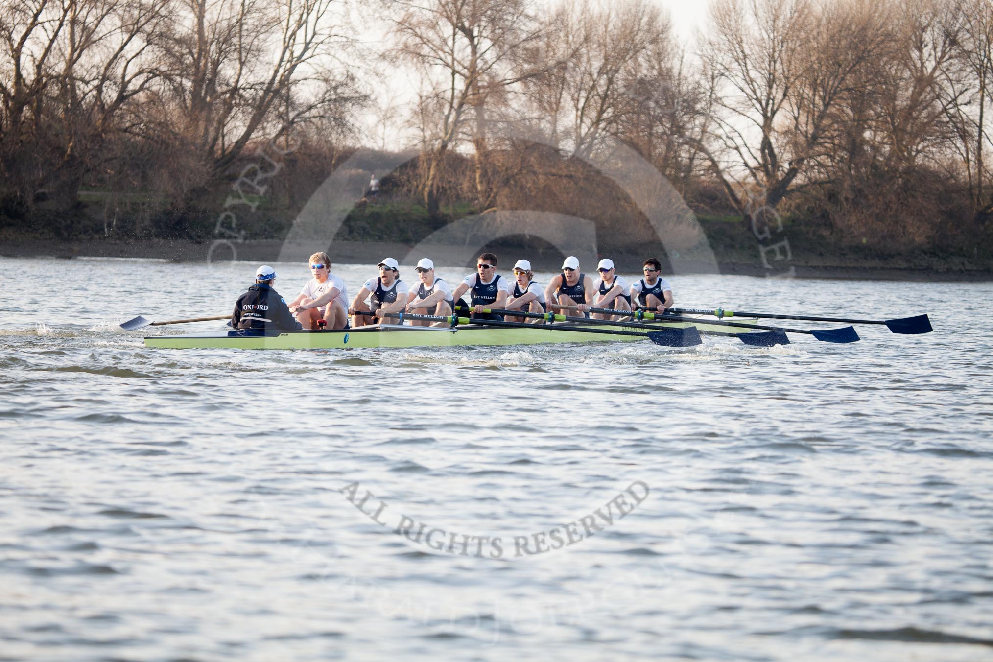
<instances>
[{"instance_id":1,"label":"bare spreading tree on far bank above the person in the OXFORD jacket","mask_svg":"<svg viewBox=\"0 0 993 662\"><path fill-rule=\"evenodd\" d=\"M318 62L344 41L334 0L179 1L163 100L175 105L176 132L209 178L260 133L274 139L358 97L347 75Z\"/></svg>"}]
</instances>

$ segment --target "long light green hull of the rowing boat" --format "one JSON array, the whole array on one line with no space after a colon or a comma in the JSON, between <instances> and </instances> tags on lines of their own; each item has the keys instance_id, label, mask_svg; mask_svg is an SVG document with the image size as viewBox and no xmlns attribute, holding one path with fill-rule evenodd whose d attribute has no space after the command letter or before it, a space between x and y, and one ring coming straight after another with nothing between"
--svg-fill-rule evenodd
<instances>
[{"instance_id":1,"label":"long light green hull of the rowing boat","mask_svg":"<svg viewBox=\"0 0 993 662\"><path fill-rule=\"evenodd\" d=\"M751 321L749 321L751 322ZM656 325L652 325L655 327ZM700 331L727 334L737 330L705 323L659 324L659 329L696 327ZM576 329L577 331L568 331ZM590 332L590 331L610 332ZM621 332L618 332L621 331ZM624 331L635 334L626 335ZM554 342L604 342L646 340L643 331L619 327L551 325L533 328L399 327L381 325L348 331L284 331L270 336L229 336L227 333L149 335L145 345L163 349L344 349L349 347L446 347L472 345L538 344Z\"/></svg>"}]
</instances>

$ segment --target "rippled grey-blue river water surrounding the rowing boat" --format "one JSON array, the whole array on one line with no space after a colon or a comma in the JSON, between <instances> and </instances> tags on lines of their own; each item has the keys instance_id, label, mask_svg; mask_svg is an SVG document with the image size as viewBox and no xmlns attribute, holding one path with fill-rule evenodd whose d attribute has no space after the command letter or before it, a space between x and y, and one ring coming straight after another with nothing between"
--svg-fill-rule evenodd
<instances>
[{"instance_id":1,"label":"rippled grey-blue river water surrounding the rowing boat","mask_svg":"<svg viewBox=\"0 0 993 662\"><path fill-rule=\"evenodd\" d=\"M225 314L255 266L0 258L0 659L993 655L993 284L671 279L935 329L844 345L116 327Z\"/></svg>"}]
</instances>

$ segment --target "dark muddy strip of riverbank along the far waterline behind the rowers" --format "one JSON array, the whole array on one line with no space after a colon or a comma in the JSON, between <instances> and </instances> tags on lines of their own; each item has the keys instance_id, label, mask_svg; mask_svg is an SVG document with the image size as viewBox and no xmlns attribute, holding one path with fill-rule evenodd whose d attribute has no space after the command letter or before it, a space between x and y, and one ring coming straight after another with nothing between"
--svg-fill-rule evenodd
<instances>
[{"instance_id":1,"label":"dark muddy strip of riverbank along the far waterline behind the rowers","mask_svg":"<svg viewBox=\"0 0 993 662\"><path fill-rule=\"evenodd\" d=\"M77 257L157 258L172 262L204 261L276 261L283 251L284 242L278 239L248 240L234 244L142 239L108 241L99 239L12 239L0 246L0 255L8 257ZM415 259L404 259L412 245L384 241L335 241L329 253L339 264L375 264L385 256L392 256L401 263L413 264ZM645 247L646 252L655 248ZM506 247L505 252L519 252L519 248ZM500 251L497 248L497 253ZM849 252L841 255L809 255L796 251L789 262L780 262L775 270L762 263L758 248L750 259L746 250L721 251L715 248L720 273L743 276L792 275L796 278L871 279L893 281L991 281L993 268L978 260L960 255L931 253L901 254L891 256L865 255ZM659 250L659 257L664 250ZM467 266L472 257L466 258L465 246L432 245L431 258L439 266ZM411 256L412 257L412 256ZM636 270L641 255L612 255L618 267ZM530 256L535 269L555 271L562 256L554 249L547 249ZM306 259L306 256L303 258ZM791 269L791 271L790 271ZM592 269L591 269L592 271ZM679 273L712 273L712 263L706 259L681 259Z\"/></svg>"}]
</instances>

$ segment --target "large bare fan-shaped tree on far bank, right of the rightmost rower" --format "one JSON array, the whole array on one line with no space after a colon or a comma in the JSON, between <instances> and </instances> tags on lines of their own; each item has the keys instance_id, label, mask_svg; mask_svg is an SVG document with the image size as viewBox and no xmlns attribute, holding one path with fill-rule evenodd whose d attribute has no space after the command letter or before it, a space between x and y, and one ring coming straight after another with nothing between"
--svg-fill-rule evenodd
<instances>
[{"instance_id":1,"label":"large bare fan-shaped tree on far bank, right of the rightmost rower","mask_svg":"<svg viewBox=\"0 0 993 662\"><path fill-rule=\"evenodd\" d=\"M702 57L719 130L705 153L736 208L761 226L824 154L838 108L885 56L888 22L861 0L718 0ZM727 160L722 160L727 155ZM739 180L738 175L744 180Z\"/></svg>"}]
</instances>

